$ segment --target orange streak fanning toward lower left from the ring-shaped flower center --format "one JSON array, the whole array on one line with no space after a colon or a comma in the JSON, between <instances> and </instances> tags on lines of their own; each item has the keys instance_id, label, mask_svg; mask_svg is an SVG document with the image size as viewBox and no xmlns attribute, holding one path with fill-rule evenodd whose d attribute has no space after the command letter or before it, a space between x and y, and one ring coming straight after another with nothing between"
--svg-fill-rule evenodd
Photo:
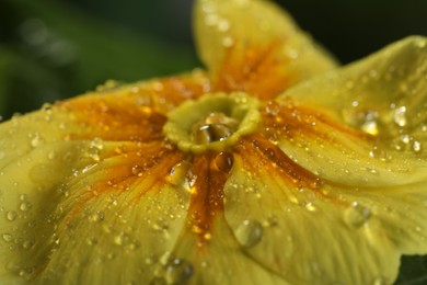
<instances>
[{"instance_id":1,"label":"orange streak fanning toward lower left from the ring-shaped flower center","mask_svg":"<svg viewBox=\"0 0 427 285\"><path fill-rule=\"evenodd\" d=\"M85 190L73 193L74 200L71 201L77 202L69 210L67 224L73 220L91 201L105 200L108 194L126 194L130 197L128 204L132 204L143 198L148 191L160 191L168 184L165 178L172 167L180 162L183 157L181 151L166 149L161 144L148 148L137 147L116 157L106 153L105 157L101 158L99 170L96 170L101 175L93 172L89 173L89 183ZM102 180L91 183L91 178L99 176L102 176ZM85 178L82 176L81 179Z\"/></svg>"}]
</instances>

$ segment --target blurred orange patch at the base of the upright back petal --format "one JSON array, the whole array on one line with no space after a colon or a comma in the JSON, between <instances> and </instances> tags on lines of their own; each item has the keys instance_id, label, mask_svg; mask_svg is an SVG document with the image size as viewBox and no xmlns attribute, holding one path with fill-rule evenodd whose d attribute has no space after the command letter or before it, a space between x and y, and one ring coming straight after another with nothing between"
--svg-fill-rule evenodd
<instances>
[{"instance_id":1,"label":"blurred orange patch at the base of the upright back petal","mask_svg":"<svg viewBox=\"0 0 427 285\"><path fill-rule=\"evenodd\" d=\"M259 99L270 99L290 87L291 75L286 72L282 41L265 46L228 49L222 67L215 75L214 90L244 91Z\"/></svg>"}]
</instances>

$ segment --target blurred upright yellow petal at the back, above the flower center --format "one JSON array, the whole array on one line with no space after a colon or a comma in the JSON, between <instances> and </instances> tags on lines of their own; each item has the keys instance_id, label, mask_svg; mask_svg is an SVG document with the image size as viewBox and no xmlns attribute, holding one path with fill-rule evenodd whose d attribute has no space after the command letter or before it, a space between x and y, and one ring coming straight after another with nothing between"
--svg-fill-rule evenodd
<instances>
[{"instance_id":1,"label":"blurred upright yellow petal at the back, above the flower center","mask_svg":"<svg viewBox=\"0 0 427 285\"><path fill-rule=\"evenodd\" d=\"M259 0L198 0L198 52L216 91L273 98L335 61L274 3Z\"/></svg>"}]
</instances>

